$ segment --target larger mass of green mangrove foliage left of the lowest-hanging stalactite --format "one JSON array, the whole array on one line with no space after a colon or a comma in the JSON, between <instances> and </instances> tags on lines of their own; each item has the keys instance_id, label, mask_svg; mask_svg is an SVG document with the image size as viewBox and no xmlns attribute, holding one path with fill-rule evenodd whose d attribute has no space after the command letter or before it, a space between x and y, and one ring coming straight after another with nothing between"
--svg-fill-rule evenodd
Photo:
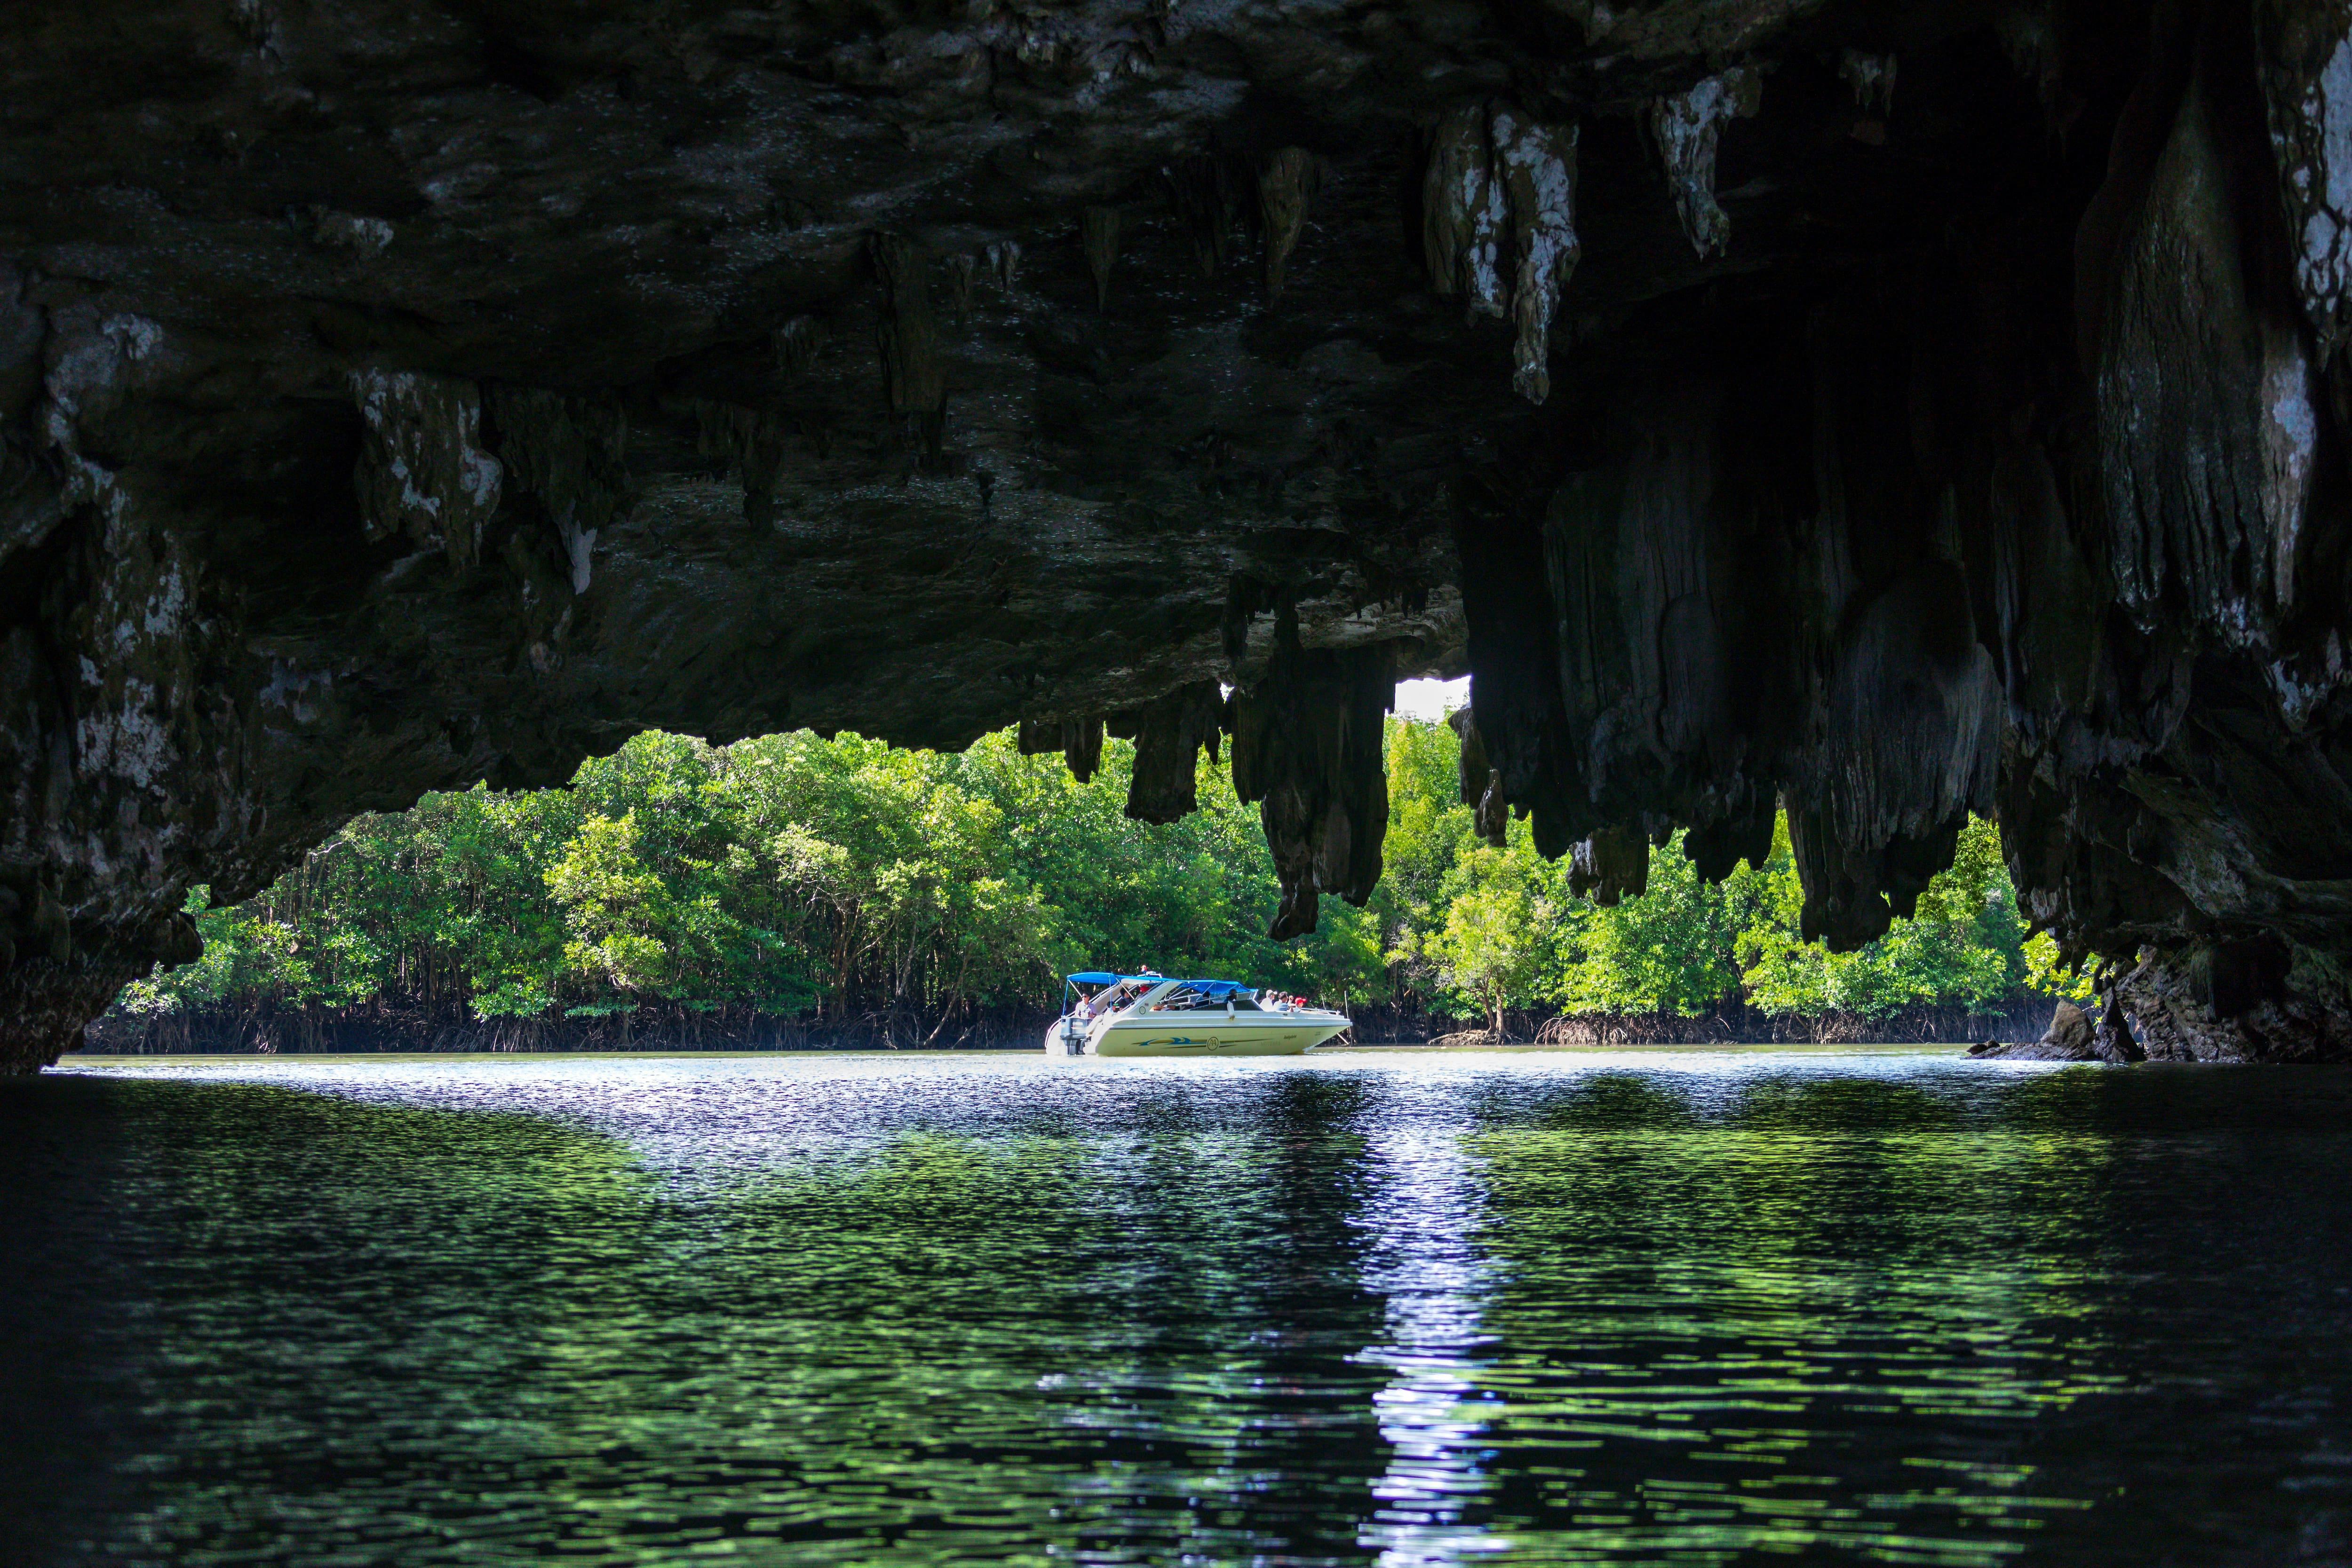
<instances>
[{"instance_id":1,"label":"larger mass of green mangrove foliage left of the lowest-hanging stalactite","mask_svg":"<svg viewBox=\"0 0 2352 1568\"><path fill-rule=\"evenodd\" d=\"M1265 938L1279 889L1223 766L1202 764L1202 811L1155 827L1124 816L1131 762L1115 741L1080 785L1009 733L962 755L644 733L569 790L355 818L245 905L200 889L205 957L120 1006L943 1020L1047 1004L1098 964L1385 997L1369 912L1334 900L1312 936Z\"/></svg>"}]
</instances>

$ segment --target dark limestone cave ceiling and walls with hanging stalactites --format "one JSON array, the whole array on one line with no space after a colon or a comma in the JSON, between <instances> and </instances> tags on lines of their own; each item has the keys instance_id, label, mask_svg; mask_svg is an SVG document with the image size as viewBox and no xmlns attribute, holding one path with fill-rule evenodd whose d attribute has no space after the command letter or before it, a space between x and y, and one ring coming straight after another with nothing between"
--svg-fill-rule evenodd
<instances>
[{"instance_id":1,"label":"dark limestone cave ceiling and walls with hanging stalactites","mask_svg":"<svg viewBox=\"0 0 2352 1568\"><path fill-rule=\"evenodd\" d=\"M1230 736L1397 675L1597 898L1966 811L2152 1058L2352 1051L2352 16L129 0L0 21L0 1063L353 811L661 724ZM1900 63L1900 94L1896 66ZM1508 374L1505 374L1508 367ZM1230 689L1230 696L1228 696Z\"/></svg>"}]
</instances>

